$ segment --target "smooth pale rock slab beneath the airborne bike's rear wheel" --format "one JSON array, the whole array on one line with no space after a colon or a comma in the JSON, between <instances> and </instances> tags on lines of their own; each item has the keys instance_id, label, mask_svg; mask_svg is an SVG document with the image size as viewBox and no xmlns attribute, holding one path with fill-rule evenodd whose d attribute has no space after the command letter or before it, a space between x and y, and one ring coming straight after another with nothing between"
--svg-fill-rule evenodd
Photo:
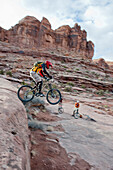
<instances>
[{"instance_id":1,"label":"smooth pale rock slab beneath the airborne bike's rear wheel","mask_svg":"<svg viewBox=\"0 0 113 170\"><path fill-rule=\"evenodd\" d=\"M0 169L30 170L27 116L16 91L0 78Z\"/></svg>"}]
</instances>

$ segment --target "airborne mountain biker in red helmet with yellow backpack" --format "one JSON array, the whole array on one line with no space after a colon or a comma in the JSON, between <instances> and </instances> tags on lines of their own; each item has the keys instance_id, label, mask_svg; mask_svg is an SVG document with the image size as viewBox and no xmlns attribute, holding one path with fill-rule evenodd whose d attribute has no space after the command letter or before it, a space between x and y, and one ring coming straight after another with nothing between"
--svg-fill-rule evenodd
<instances>
[{"instance_id":1,"label":"airborne mountain biker in red helmet with yellow backpack","mask_svg":"<svg viewBox=\"0 0 113 170\"><path fill-rule=\"evenodd\" d=\"M36 62L34 63L34 67L30 70L30 76L31 78L36 82L36 85L39 85L39 95L43 96L43 93L41 92L42 84L43 84L43 78L48 80L47 77L52 79L52 76L49 75L46 69L49 69L52 66L52 63L50 61L44 62ZM45 76L47 75L47 77Z\"/></svg>"}]
</instances>

